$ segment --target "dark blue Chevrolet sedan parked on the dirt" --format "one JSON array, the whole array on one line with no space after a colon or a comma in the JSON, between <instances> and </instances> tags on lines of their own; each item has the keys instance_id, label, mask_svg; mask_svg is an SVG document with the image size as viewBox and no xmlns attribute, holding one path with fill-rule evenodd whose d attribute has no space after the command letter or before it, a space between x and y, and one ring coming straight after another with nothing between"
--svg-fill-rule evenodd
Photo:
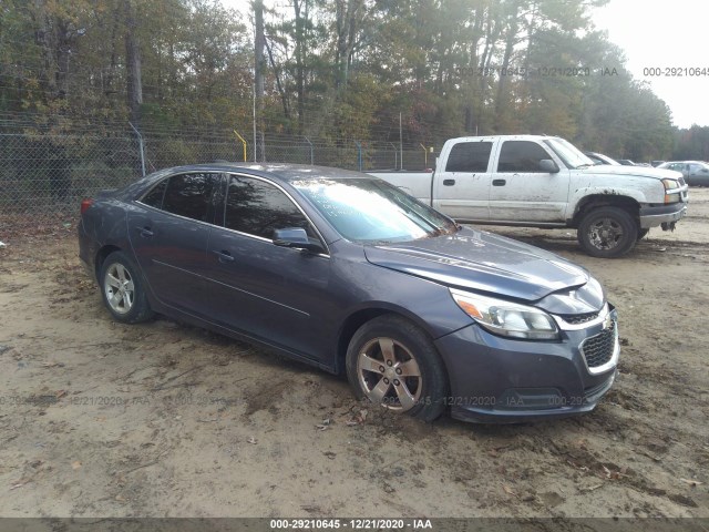
<instances>
[{"instance_id":1,"label":"dark blue Chevrolet sedan parked on the dirt","mask_svg":"<svg viewBox=\"0 0 709 532\"><path fill-rule=\"evenodd\" d=\"M357 172L163 170L84 200L79 245L114 319L246 339L427 421L586 412L616 377L616 311L588 272Z\"/></svg>"}]
</instances>

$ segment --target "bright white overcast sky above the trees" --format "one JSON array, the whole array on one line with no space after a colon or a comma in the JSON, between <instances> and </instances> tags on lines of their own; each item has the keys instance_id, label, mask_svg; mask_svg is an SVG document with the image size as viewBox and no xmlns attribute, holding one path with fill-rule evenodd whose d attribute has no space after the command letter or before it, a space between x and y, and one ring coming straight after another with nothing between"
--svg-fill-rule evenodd
<instances>
[{"instance_id":1,"label":"bright white overcast sky above the trees","mask_svg":"<svg viewBox=\"0 0 709 532\"><path fill-rule=\"evenodd\" d=\"M271 7L276 1L282 3L264 3ZM242 13L250 11L249 0L222 3ZM594 11L593 22L625 51L634 78L646 81L667 103L676 126L709 126L709 2L610 0Z\"/></svg>"}]
</instances>

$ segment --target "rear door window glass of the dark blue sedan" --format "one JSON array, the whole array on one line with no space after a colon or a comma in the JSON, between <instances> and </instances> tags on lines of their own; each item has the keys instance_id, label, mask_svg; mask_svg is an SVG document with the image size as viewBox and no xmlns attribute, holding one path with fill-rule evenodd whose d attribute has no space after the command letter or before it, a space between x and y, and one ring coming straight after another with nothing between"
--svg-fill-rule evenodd
<instances>
[{"instance_id":1,"label":"rear door window glass of the dark blue sedan","mask_svg":"<svg viewBox=\"0 0 709 532\"><path fill-rule=\"evenodd\" d=\"M207 222L212 191L218 176L209 173L173 175L167 182L163 211Z\"/></svg>"}]
</instances>

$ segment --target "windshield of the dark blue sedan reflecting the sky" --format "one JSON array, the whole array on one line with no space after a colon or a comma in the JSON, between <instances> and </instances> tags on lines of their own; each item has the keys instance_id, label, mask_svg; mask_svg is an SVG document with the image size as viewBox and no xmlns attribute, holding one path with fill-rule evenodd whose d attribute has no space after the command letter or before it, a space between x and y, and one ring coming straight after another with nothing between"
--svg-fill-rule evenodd
<instances>
[{"instance_id":1,"label":"windshield of the dark blue sedan reflecting the sky","mask_svg":"<svg viewBox=\"0 0 709 532\"><path fill-rule=\"evenodd\" d=\"M292 185L348 241L408 242L458 231L452 219L384 181L302 180Z\"/></svg>"}]
</instances>

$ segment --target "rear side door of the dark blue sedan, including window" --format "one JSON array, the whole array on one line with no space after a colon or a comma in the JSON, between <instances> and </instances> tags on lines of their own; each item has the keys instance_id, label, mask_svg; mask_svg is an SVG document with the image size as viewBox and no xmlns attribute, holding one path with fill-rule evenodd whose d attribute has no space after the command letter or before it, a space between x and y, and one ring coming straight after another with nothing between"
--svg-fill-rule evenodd
<instances>
[{"instance_id":1,"label":"rear side door of the dark blue sedan, including window","mask_svg":"<svg viewBox=\"0 0 709 532\"><path fill-rule=\"evenodd\" d=\"M153 295L203 317L204 268L218 173L195 172L156 184L127 215L131 245Z\"/></svg>"}]
</instances>

